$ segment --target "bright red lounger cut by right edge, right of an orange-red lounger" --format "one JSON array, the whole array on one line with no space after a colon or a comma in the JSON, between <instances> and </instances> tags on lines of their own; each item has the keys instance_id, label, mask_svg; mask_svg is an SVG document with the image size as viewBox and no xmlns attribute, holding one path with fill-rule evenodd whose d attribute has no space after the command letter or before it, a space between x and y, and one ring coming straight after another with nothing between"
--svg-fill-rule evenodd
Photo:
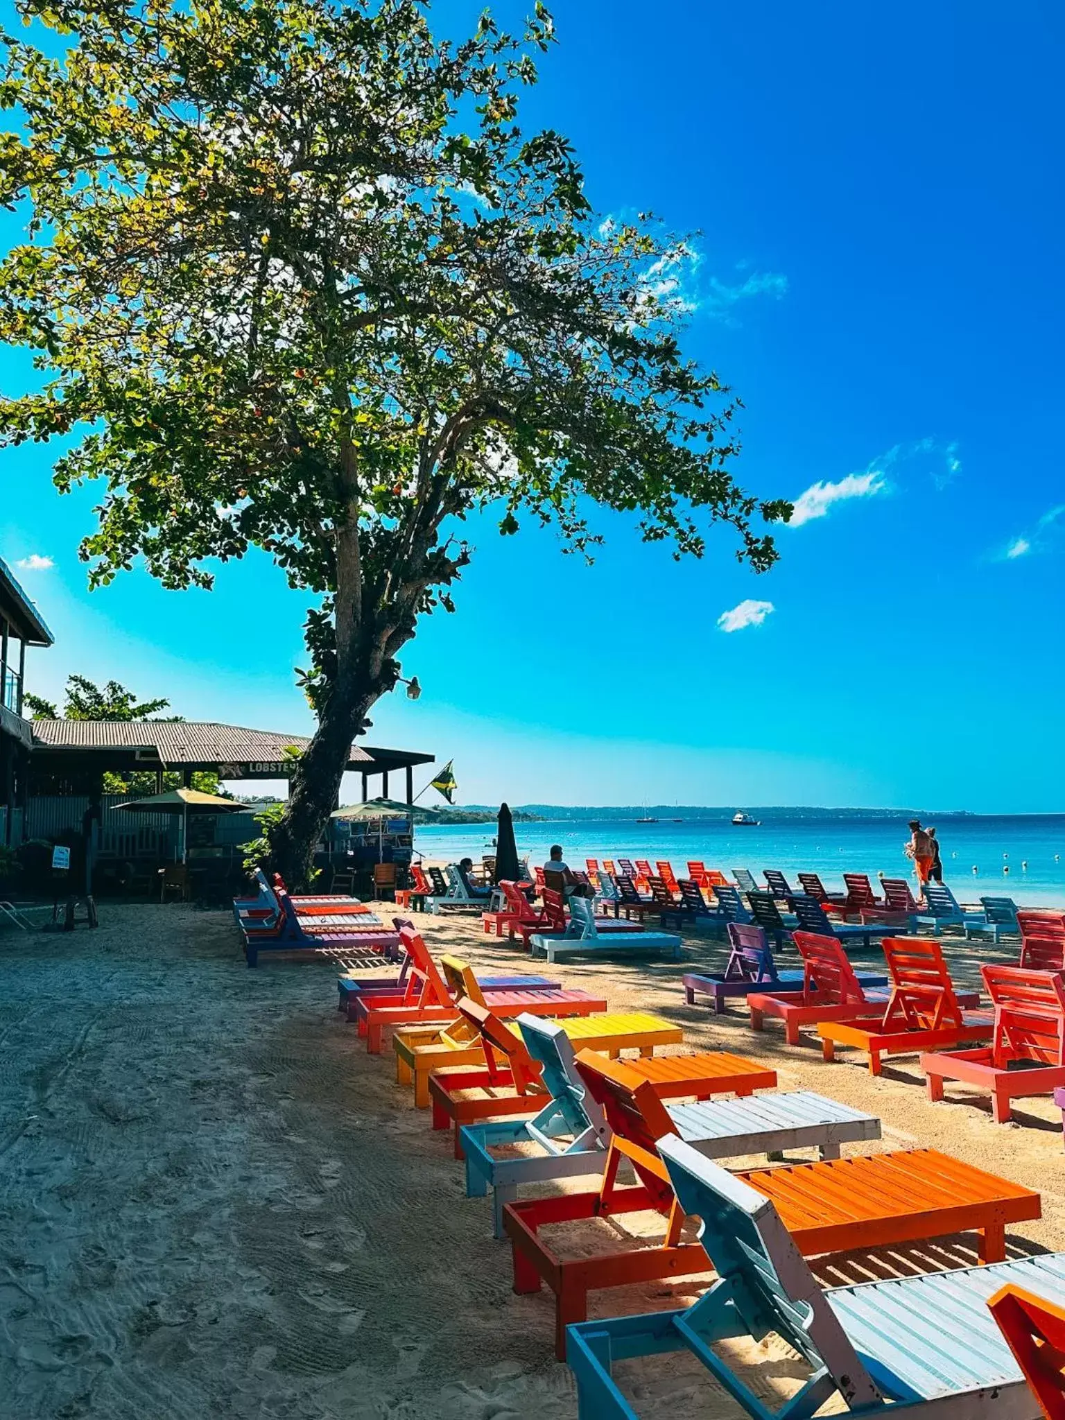
<instances>
[{"instance_id":1,"label":"bright red lounger cut by right edge, right of an orange-red lounger","mask_svg":"<svg viewBox=\"0 0 1065 1420\"><path fill-rule=\"evenodd\" d=\"M1065 1086L1065 980L1059 971L980 968L994 1007L991 1044L971 1051L922 1055L929 1099L943 1099L943 1081L976 1085L991 1096L997 1125L1017 1096L1049 1095Z\"/></svg>"}]
</instances>

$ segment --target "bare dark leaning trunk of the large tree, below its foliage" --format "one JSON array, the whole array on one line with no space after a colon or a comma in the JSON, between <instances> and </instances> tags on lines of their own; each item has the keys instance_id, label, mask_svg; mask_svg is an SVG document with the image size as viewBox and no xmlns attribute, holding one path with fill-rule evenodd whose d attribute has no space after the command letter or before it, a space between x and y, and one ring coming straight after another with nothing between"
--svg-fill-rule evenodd
<instances>
[{"instance_id":1,"label":"bare dark leaning trunk of the large tree, below its foliage","mask_svg":"<svg viewBox=\"0 0 1065 1420\"><path fill-rule=\"evenodd\" d=\"M273 870L281 873L293 890L311 880L314 848L337 802L352 741L365 728L366 713L382 689L345 696L341 686L335 686L314 738L295 767L288 808L271 836L270 853Z\"/></svg>"}]
</instances>

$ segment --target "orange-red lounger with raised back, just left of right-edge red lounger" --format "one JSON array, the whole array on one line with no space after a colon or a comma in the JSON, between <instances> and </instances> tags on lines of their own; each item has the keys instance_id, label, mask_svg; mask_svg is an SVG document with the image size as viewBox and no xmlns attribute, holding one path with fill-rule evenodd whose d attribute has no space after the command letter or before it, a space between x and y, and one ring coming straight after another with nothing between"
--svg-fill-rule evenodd
<instances>
[{"instance_id":1,"label":"orange-red lounger with raised back, just left of right-edge red lounger","mask_svg":"<svg viewBox=\"0 0 1065 1420\"><path fill-rule=\"evenodd\" d=\"M892 976L892 998L883 1020L819 1021L826 1061L838 1045L865 1051L869 1069L880 1074L882 1055L917 1055L985 1041L994 1031L990 1011L966 1011L954 991L943 951L926 937L885 937L883 954Z\"/></svg>"}]
</instances>

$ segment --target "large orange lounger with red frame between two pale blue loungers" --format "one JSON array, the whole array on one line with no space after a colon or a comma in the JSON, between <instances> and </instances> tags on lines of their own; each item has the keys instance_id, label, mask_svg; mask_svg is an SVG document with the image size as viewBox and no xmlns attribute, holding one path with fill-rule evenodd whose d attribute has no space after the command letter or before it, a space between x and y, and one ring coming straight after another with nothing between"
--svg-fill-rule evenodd
<instances>
[{"instance_id":1,"label":"large orange lounger with red frame between two pale blue loungers","mask_svg":"<svg viewBox=\"0 0 1065 1420\"><path fill-rule=\"evenodd\" d=\"M577 1068L612 1130L601 1187L508 1203L503 1210L514 1291L537 1292L547 1282L555 1294L559 1359L565 1359L567 1326L588 1316L589 1291L707 1271L700 1244L682 1240L684 1214L657 1153L657 1140L676 1133L665 1106L626 1065L581 1051ZM618 1186L622 1159L635 1170L636 1187ZM981 1261L998 1262L1005 1257L1005 1224L1041 1216L1038 1193L934 1149L753 1169L736 1177L772 1200L807 1257L976 1230ZM561 1258L540 1234L558 1223L646 1211L667 1220L656 1247Z\"/></svg>"}]
</instances>

